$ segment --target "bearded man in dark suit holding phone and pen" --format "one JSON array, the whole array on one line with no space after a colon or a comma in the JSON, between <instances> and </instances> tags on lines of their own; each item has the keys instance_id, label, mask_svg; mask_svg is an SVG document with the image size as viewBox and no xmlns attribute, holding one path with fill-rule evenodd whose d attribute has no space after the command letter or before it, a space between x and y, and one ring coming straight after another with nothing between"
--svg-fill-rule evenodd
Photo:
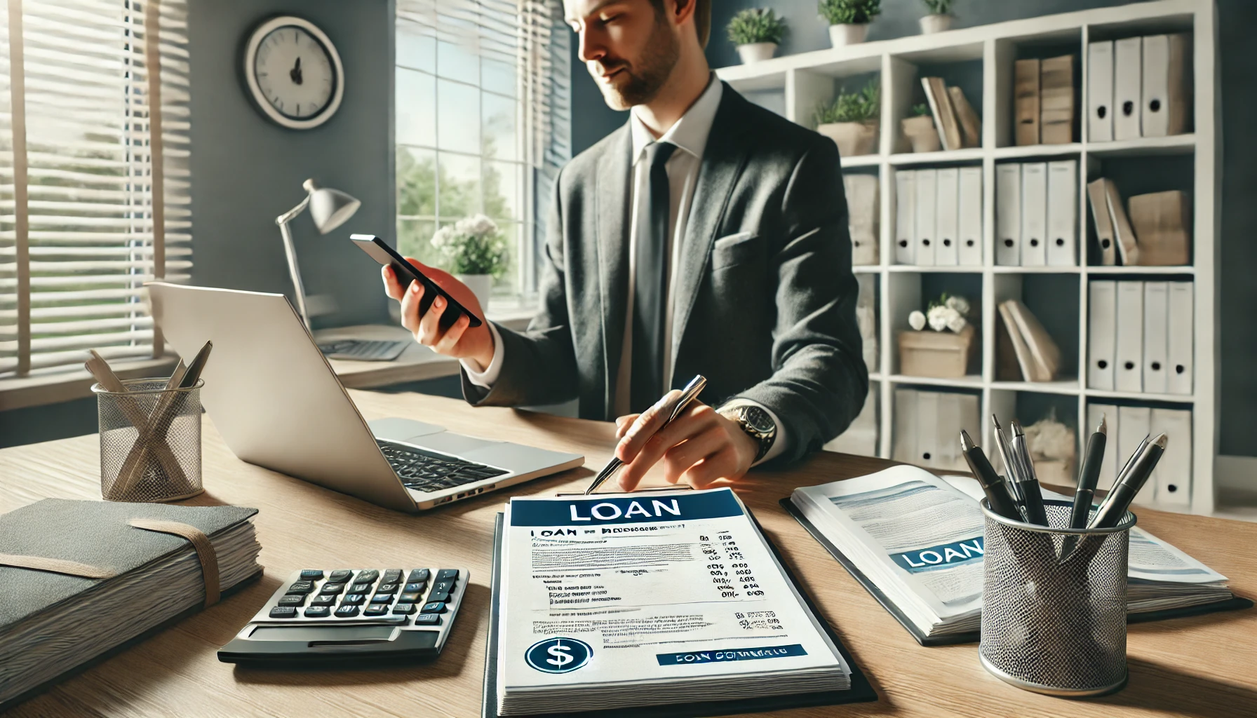
<instances>
[{"instance_id":1,"label":"bearded man in dark suit holding phone and pen","mask_svg":"<svg viewBox=\"0 0 1257 718\"><path fill-rule=\"evenodd\" d=\"M446 331L444 301L420 316L421 285L386 268L402 324L461 360L474 405L576 397L583 417L618 417L625 490L659 460L667 480L705 488L818 450L869 390L833 142L715 79L710 0L564 9L607 104L632 112L558 176L537 316L525 332L466 317ZM660 430L656 400L696 373L714 407Z\"/></svg>"}]
</instances>

